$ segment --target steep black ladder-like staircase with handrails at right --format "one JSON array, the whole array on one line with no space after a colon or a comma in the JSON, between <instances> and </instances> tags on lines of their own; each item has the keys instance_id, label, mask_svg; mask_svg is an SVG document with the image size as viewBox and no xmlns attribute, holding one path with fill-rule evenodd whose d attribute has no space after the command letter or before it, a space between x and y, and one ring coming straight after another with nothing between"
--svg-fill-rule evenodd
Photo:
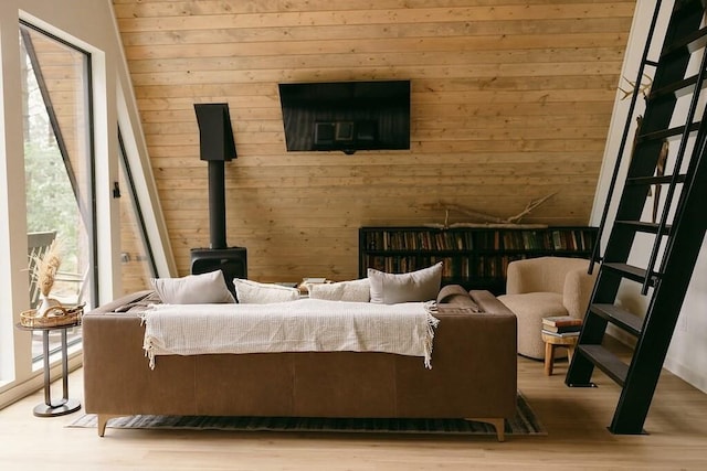
<instances>
[{"instance_id":1,"label":"steep black ladder-like staircase with handrails at right","mask_svg":"<svg viewBox=\"0 0 707 471\"><path fill-rule=\"evenodd\" d=\"M705 4L701 0L674 1L659 57L651 61L647 56L661 3L657 1L655 7L592 256L593 261L600 261L599 276L566 377L569 386L590 386L597 366L622 386L609 427L612 433L643 432L707 228ZM688 74L697 65L697 73ZM647 67L654 68L652 89L645 96L645 110L637 120L633 147L626 152L631 159L626 180L604 254L600 256L601 234L629 130L635 120L639 85ZM643 215L652 213L650 208L646 211L648 197L664 201L659 202L659 212L658 206L653 211L656 216L644 221L648 216ZM653 239L647 256L636 249L636 244L646 237ZM642 295L650 297L644 315L619 306L616 296L622 283L639 283ZM602 346L610 324L636 338L630 363Z\"/></svg>"}]
</instances>

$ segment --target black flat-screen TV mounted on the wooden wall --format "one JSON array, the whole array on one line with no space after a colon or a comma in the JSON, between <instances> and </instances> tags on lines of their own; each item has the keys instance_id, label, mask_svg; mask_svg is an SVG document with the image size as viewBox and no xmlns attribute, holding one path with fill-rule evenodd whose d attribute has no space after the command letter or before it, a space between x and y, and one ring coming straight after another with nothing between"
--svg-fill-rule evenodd
<instances>
[{"instance_id":1,"label":"black flat-screen TV mounted on the wooden wall","mask_svg":"<svg viewBox=\"0 0 707 471\"><path fill-rule=\"evenodd\" d=\"M278 86L288 151L410 149L410 81Z\"/></svg>"}]
</instances>

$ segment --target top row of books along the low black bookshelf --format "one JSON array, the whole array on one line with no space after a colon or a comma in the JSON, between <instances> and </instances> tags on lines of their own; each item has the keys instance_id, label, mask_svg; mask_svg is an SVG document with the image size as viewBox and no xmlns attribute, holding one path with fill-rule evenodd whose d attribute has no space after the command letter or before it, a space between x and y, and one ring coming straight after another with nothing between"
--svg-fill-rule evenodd
<instances>
[{"instance_id":1,"label":"top row of books along the low black bookshelf","mask_svg":"<svg viewBox=\"0 0 707 471\"><path fill-rule=\"evenodd\" d=\"M368 250L590 250L593 231L370 231Z\"/></svg>"}]
</instances>

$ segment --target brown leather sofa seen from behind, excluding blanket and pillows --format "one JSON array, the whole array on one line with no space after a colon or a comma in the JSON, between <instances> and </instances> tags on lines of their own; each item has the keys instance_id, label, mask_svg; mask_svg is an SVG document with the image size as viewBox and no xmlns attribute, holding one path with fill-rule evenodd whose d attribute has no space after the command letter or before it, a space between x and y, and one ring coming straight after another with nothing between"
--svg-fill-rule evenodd
<instances>
[{"instance_id":1,"label":"brown leather sofa seen from behind, excluding blanket and pillows","mask_svg":"<svg viewBox=\"0 0 707 471\"><path fill-rule=\"evenodd\" d=\"M84 315L84 387L98 435L112 417L148 415L467 418L516 409L516 318L488 291L440 291L432 370L415 356L299 352L162 356L143 351L148 292ZM127 312L116 312L126 311Z\"/></svg>"}]
</instances>

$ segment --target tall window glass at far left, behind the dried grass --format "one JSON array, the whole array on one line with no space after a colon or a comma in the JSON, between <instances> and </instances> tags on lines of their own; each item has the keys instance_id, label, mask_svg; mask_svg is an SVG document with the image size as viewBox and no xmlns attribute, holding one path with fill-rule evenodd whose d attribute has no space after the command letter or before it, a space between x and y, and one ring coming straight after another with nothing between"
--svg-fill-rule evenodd
<instances>
[{"instance_id":1,"label":"tall window glass at far left, behind the dried grass","mask_svg":"<svg viewBox=\"0 0 707 471\"><path fill-rule=\"evenodd\" d=\"M50 292L63 304L96 299L91 56L30 24L20 24L28 245L41 254L59 245L62 264ZM31 274L30 274L31 276ZM30 282L30 306L39 302ZM41 360L41 335L33 360ZM81 329L70 342L81 341ZM52 350L57 342L52 342Z\"/></svg>"}]
</instances>

